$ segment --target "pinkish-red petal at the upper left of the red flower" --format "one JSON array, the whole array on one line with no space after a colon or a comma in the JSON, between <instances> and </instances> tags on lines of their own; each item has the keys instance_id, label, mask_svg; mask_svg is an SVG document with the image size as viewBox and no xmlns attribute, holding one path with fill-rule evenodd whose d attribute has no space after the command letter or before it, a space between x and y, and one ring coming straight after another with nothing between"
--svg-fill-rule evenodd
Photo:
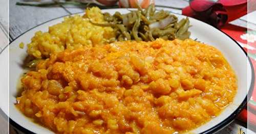
<instances>
[{"instance_id":1,"label":"pinkish-red petal at the upper left of the red flower","mask_svg":"<svg viewBox=\"0 0 256 134\"><path fill-rule=\"evenodd\" d=\"M194 0L189 3L191 9L193 9L196 12L203 12L214 6L215 2L212 1L206 1L206 0Z\"/></svg>"}]
</instances>

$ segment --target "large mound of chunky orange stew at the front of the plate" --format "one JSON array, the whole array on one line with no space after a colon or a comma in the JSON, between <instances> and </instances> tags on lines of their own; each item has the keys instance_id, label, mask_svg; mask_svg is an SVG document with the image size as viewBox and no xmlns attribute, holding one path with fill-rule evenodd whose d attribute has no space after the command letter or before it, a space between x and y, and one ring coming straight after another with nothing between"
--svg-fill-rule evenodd
<instances>
[{"instance_id":1,"label":"large mound of chunky orange stew at the front of the plate","mask_svg":"<svg viewBox=\"0 0 256 134\"><path fill-rule=\"evenodd\" d=\"M57 133L174 133L233 101L237 78L215 47L122 41L52 53L22 77L17 108Z\"/></svg>"}]
</instances>

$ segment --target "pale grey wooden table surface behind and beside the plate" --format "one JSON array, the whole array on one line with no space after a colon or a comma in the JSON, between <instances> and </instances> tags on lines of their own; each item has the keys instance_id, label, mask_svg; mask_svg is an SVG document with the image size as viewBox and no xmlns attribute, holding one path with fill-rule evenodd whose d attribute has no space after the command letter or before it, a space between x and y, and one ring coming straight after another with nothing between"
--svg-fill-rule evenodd
<instances>
[{"instance_id":1,"label":"pale grey wooden table surface behind and beside the plate","mask_svg":"<svg viewBox=\"0 0 256 134\"><path fill-rule=\"evenodd\" d=\"M9 15L8 11L8 1L0 2L0 51L8 45L8 32L9 32L9 41L13 41L19 35L28 31L29 29L46 22L48 20L71 15L74 13L83 12L84 8L82 7L68 7L68 6L57 6L57 7L31 7L31 6L17 6L16 2L20 0L11 0L9 1ZM6 6L5 6L6 5ZM174 6L178 8L184 8L188 6L186 0L156 0L156 5L162 6ZM181 10L169 8L169 11L181 14ZM255 13L254 13L255 15ZM9 16L9 18L8 18ZM9 25L8 25L9 20ZM230 22L235 25L247 27L247 16L244 16L240 19ZM248 27L250 29L256 30L256 22L248 22ZM9 26L9 31L8 31ZM6 119L3 116L0 116L0 124L7 124ZM6 125L0 125L0 133L6 133ZM15 130L12 128L10 132L15 133Z\"/></svg>"}]
</instances>

